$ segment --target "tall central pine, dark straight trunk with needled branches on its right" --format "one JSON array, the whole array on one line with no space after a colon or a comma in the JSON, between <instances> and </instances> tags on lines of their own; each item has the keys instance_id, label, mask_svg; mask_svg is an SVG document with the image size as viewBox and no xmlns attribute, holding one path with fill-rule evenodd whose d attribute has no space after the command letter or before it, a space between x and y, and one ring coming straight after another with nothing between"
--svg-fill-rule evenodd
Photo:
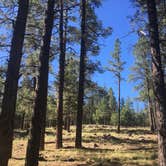
<instances>
[{"instance_id":1,"label":"tall central pine, dark straight trunk with needled branches on its right","mask_svg":"<svg viewBox=\"0 0 166 166\"><path fill-rule=\"evenodd\" d=\"M75 141L75 146L78 148L82 146L84 90L91 82L91 75L96 69L99 69L98 66L100 64L91 61L90 56L97 56L99 54L99 37L107 37L111 33L111 28L103 28L101 21L98 20L95 13L95 8L101 5L101 1L81 2L81 50Z\"/></svg>"}]
</instances>

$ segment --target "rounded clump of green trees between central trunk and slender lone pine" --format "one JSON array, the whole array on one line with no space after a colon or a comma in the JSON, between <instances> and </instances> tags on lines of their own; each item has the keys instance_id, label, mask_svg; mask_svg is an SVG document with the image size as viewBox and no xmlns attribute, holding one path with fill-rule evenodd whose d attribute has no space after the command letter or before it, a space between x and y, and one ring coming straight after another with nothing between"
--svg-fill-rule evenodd
<instances>
[{"instance_id":1,"label":"rounded clump of green trees between central trunk and slender lone pine","mask_svg":"<svg viewBox=\"0 0 166 166\"><path fill-rule=\"evenodd\" d=\"M84 105L84 123L110 124L112 112L116 109L116 98L113 90L106 90L97 84L86 89Z\"/></svg>"}]
</instances>

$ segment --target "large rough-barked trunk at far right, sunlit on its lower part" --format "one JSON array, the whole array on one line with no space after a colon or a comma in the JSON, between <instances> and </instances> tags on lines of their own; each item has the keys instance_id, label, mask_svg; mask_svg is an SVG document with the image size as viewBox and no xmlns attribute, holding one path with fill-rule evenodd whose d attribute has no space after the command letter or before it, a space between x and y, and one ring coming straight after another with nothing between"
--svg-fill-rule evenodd
<instances>
[{"instance_id":1,"label":"large rough-barked trunk at far right, sunlit on its lower part","mask_svg":"<svg viewBox=\"0 0 166 166\"><path fill-rule=\"evenodd\" d=\"M149 33L152 54L154 94L157 101L157 130L159 165L166 166L166 95L164 73L161 64L159 32L155 0L147 0Z\"/></svg>"}]
</instances>

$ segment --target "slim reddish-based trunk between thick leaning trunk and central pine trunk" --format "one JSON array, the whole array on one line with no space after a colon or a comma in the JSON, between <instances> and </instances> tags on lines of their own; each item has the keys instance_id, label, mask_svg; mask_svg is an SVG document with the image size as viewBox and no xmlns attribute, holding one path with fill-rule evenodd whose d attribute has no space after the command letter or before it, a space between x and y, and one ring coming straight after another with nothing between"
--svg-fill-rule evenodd
<instances>
[{"instance_id":1,"label":"slim reddish-based trunk between thick leaning trunk and central pine trunk","mask_svg":"<svg viewBox=\"0 0 166 166\"><path fill-rule=\"evenodd\" d=\"M64 72L65 72L65 44L64 44L64 1L60 0L60 20L59 20L59 38L60 38L60 58L59 58L59 86L58 86L58 105L57 105L57 128L56 128L56 148L62 148L62 126L63 126L63 90L64 90Z\"/></svg>"}]
</instances>

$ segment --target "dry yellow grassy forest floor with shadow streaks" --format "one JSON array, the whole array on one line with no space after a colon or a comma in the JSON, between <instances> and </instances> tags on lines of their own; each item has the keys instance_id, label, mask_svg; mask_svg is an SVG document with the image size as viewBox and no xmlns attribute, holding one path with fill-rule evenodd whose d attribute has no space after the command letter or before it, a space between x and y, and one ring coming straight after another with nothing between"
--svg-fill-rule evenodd
<instances>
[{"instance_id":1,"label":"dry yellow grassy forest floor with shadow streaks","mask_svg":"<svg viewBox=\"0 0 166 166\"><path fill-rule=\"evenodd\" d=\"M55 129L46 130L45 151L39 166L157 166L157 137L148 128L83 126L83 148L74 148L75 129L64 131L64 148L55 149ZM26 131L15 131L13 157L9 166L23 166Z\"/></svg>"}]
</instances>

